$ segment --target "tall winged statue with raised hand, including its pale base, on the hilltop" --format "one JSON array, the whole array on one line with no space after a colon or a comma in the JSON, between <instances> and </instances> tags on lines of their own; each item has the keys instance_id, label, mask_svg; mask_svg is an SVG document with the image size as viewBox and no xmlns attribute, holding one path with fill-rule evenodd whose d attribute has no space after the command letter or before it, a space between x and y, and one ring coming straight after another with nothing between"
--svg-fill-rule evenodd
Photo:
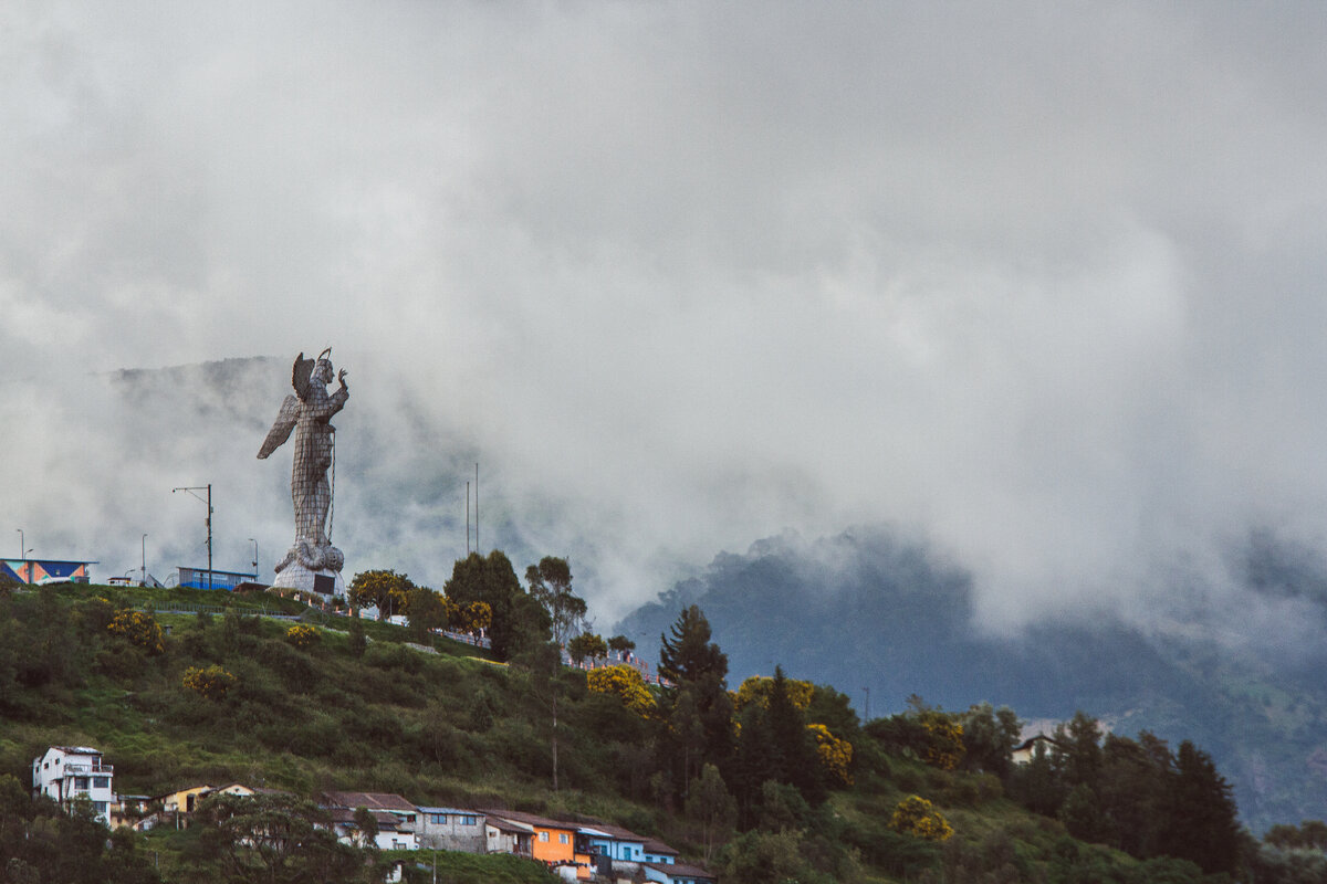
<instances>
[{"instance_id":1,"label":"tall winged statue with raised hand, including its pale base, on the hilltop","mask_svg":"<svg viewBox=\"0 0 1327 884\"><path fill-rule=\"evenodd\" d=\"M301 353L295 358L291 370L293 395L281 403L276 421L263 440L259 459L265 459L280 448L295 432L295 456L291 468L291 500L295 504L295 545L276 566L275 586L318 590L328 587L322 577L330 579L334 588L344 594L345 582L341 566L345 557L332 546L332 470L334 463L336 427L329 421L332 415L345 407L350 390L345 383L345 368L337 379L340 388L329 394L332 383L332 349L328 347L317 359L305 359ZM334 472L332 473L334 476Z\"/></svg>"}]
</instances>

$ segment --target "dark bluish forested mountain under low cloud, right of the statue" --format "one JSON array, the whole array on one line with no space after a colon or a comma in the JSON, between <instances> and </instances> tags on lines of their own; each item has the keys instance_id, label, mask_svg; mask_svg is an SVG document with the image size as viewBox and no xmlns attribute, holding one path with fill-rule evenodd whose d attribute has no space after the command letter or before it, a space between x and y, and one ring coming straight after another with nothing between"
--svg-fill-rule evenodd
<instances>
[{"instance_id":1,"label":"dark bluish forested mountain under low cloud, right of the statue","mask_svg":"<svg viewBox=\"0 0 1327 884\"><path fill-rule=\"evenodd\" d=\"M1322 586L1324 571L1303 557L1278 567L1266 543L1250 550L1258 573L1279 578L1250 582L1247 604ZM652 655L690 603L729 655L730 684L782 664L851 694L859 709L869 688L873 716L901 710L913 693L955 710L983 700L1009 705L1023 718L1083 709L1128 736L1148 729L1197 742L1257 830L1327 816L1327 692L1310 676L1323 672L1320 651L1230 647L1216 637L1221 624L1201 618L1186 620L1182 636L1103 614L983 632L971 578L885 530L813 543L784 535L722 554L618 628Z\"/></svg>"}]
</instances>

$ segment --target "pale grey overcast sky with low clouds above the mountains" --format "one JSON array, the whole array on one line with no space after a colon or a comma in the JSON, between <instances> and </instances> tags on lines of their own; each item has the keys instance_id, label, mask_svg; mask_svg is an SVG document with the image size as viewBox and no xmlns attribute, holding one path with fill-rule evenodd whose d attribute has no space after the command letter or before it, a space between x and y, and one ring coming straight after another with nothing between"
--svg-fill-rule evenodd
<instances>
[{"instance_id":1,"label":"pale grey overcast sky with low clouds above the mountains","mask_svg":"<svg viewBox=\"0 0 1327 884\"><path fill-rule=\"evenodd\" d=\"M928 537L997 623L1220 582L1250 527L1327 547L1324 30L1318 3L5 3L0 531L137 566L194 514L125 476L214 464L107 452L89 378L330 343L380 375L344 363L349 408L395 378L512 520L561 501L531 530L605 615L784 529ZM261 432L228 518L275 550Z\"/></svg>"}]
</instances>

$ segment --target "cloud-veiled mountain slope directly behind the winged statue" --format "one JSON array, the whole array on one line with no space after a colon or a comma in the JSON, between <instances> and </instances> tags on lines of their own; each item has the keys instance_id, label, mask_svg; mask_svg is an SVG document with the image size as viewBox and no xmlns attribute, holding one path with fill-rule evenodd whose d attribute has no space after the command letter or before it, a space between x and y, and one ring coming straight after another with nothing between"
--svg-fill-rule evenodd
<instances>
[{"instance_id":1,"label":"cloud-veiled mountain slope directly behind the winged statue","mask_svg":"<svg viewBox=\"0 0 1327 884\"><path fill-rule=\"evenodd\" d=\"M350 400L337 428L332 539L346 553L346 575L372 567L406 571L441 587L466 554L466 484L478 445L471 429L406 375L391 354L340 354ZM77 384L80 436L41 448L44 496L28 508L28 527L46 554L78 554L118 574L139 562L150 571L206 562L203 508L175 486L212 485L218 569L247 569L253 541L259 570L293 537L291 448L256 453L291 392L291 358L234 358L166 368L125 368ZM77 444L74 444L77 443ZM69 447L69 451L64 448ZM484 545L522 567L553 551L529 537L560 524L557 501L516 516L503 492L502 464L482 476ZM66 501L81 504L74 514ZM49 512L48 512L49 510ZM36 526L41 525L41 529Z\"/></svg>"}]
</instances>

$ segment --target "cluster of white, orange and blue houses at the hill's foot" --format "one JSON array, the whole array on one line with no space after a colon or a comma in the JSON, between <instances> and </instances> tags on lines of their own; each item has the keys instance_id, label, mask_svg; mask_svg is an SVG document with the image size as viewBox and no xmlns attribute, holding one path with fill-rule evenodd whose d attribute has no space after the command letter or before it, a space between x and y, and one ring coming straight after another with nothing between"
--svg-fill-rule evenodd
<instances>
[{"instance_id":1,"label":"cluster of white, orange and blue houses at the hill's foot","mask_svg":"<svg viewBox=\"0 0 1327 884\"><path fill-rule=\"evenodd\" d=\"M114 767L88 746L52 746L32 762L32 789L62 807L86 798L106 826L188 826L199 803L212 794L253 795L263 789L242 783L191 786L165 795L117 795ZM317 802L332 818L337 838L361 843L356 823L366 810L377 824L381 850L449 850L512 854L544 863L567 881L656 881L717 884L709 871L682 863L667 844L608 823L579 823L502 808L426 807L401 795L328 791Z\"/></svg>"}]
</instances>

